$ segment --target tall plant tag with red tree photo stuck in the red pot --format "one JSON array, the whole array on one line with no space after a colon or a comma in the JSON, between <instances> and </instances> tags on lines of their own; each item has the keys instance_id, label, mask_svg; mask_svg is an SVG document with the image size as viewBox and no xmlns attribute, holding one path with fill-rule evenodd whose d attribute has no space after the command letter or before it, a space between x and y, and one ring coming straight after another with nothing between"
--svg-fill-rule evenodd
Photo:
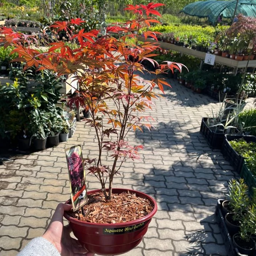
<instances>
[{"instance_id":1,"label":"tall plant tag with red tree photo stuck in the red pot","mask_svg":"<svg viewBox=\"0 0 256 256\"><path fill-rule=\"evenodd\" d=\"M65 148L73 210L87 203L85 170L81 145Z\"/></svg>"}]
</instances>

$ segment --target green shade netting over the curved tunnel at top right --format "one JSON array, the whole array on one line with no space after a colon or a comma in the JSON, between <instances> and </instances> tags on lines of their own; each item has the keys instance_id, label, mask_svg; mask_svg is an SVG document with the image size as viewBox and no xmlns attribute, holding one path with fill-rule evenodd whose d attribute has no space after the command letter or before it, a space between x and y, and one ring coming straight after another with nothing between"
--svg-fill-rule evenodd
<instances>
[{"instance_id":1,"label":"green shade netting over the curved tunnel at top right","mask_svg":"<svg viewBox=\"0 0 256 256\"><path fill-rule=\"evenodd\" d=\"M215 23L217 17L233 18L237 0L231 1L199 1L186 5L180 12L199 18L208 17L209 22ZM238 0L236 15L242 14L256 18L256 0Z\"/></svg>"}]
</instances>

